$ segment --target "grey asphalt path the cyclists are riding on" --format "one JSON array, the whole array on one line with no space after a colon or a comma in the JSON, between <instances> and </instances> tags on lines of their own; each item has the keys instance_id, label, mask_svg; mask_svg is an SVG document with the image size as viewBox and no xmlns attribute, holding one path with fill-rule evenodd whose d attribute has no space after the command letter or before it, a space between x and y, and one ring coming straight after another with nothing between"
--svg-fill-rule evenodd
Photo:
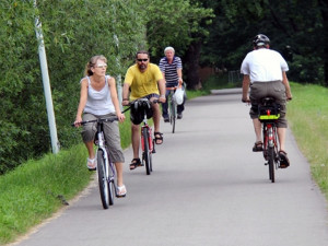
<instances>
[{"instance_id":1,"label":"grey asphalt path the cyclists are riding on","mask_svg":"<svg viewBox=\"0 0 328 246\"><path fill-rule=\"evenodd\" d=\"M129 171L132 151L125 151L126 198L104 210L95 177L15 245L327 246L327 202L291 131L291 166L272 184L262 154L251 152L248 110L235 93L188 101L176 133L162 121L150 176Z\"/></svg>"}]
</instances>

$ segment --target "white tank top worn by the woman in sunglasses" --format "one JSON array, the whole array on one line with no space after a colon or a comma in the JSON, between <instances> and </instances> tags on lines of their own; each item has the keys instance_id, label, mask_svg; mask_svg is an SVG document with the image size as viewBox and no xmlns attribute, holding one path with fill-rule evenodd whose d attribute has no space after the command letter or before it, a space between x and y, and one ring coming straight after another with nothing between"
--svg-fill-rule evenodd
<instances>
[{"instance_id":1,"label":"white tank top worn by the woman in sunglasses","mask_svg":"<svg viewBox=\"0 0 328 246\"><path fill-rule=\"evenodd\" d=\"M107 82L110 77L105 75L105 86L101 91L96 91L91 86L90 77L86 77L86 79L89 83L87 101L83 112L93 115L107 115L115 113L115 107L109 92L109 84Z\"/></svg>"}]
</instances>

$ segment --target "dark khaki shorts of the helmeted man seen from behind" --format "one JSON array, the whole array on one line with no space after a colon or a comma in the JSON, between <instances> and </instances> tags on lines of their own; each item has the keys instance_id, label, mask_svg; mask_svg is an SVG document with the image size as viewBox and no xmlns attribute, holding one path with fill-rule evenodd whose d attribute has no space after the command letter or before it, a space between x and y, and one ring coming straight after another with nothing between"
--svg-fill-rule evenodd
<instances>
[{"instance_id":1,"label":"dark khaki shorts of the helmeted man seen from behind","mask_svg":"<svg viewBox=\"0 0 328 246\"><path fill-rule=\"evenodd\" d=\"M285 86L282 81L272 81L272 82L254 82L250 85L249 98L251 107L249 115L251 119L258 118L258 104L262 97L271 96L276 98L276 103L280 104L280 118L277 121L278 128L286 128L288 121L285 119L286 114L286 96L285 96Z\"/></svg>"}]
</instances>

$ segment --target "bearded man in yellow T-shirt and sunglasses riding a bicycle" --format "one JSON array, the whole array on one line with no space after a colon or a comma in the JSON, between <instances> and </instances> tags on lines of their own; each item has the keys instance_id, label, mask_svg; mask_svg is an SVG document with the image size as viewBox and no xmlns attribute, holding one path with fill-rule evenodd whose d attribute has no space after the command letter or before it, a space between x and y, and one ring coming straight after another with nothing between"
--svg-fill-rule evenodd
<instances>
[{"instance_id":1,"label":"bearded man in yellow T-shirt and sunglasses riding a bicycle","mask_svg":"<svg viewBox=\"0 0 328 246\"><path fill-rule=\"evenodd\" d=\"M130 95L129 95L130 93ZM125 78L122 89L122 105L129 105L130 101L138 98L148 98L150 101L159 99L161 103L165 103L165 80L163 79L160 68L150 62L149 52L140 50L136 55L136 63L131 66ZM140 105L147 107L147 105ZM160 131L161 109L159 104L151 104L153 110L154 121L154 139L156 144L163 143L163 133ZM138 115L131 112L131 138L133 149L133 160L130 164L130 169L141 165L139 157L140 149L140 127L141 122L138 120Z\"/></svg>"}]
</instances>

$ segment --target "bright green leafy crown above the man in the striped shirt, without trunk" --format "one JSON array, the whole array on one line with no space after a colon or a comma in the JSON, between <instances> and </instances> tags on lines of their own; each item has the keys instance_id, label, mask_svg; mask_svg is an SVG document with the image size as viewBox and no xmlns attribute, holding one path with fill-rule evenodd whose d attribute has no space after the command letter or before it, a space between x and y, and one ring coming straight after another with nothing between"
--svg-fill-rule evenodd
<instances>
[{"instance_id":1,"label":"bright green leafy crown above the man in the striped shirt, without trunk","mask_svg":"<svg viewBox=\"0 0 328 246\"><path fill-rule=\"evenodd\" d=\"M183 56L188 46L200 35L207 36L207 25L214 17L212 9L202 8L198 1L163 1L145 0L149 8L147 15L147 40L155 61L164 56L166 46L174 46L176 52Z\"/></svg>"}]
</instances>

